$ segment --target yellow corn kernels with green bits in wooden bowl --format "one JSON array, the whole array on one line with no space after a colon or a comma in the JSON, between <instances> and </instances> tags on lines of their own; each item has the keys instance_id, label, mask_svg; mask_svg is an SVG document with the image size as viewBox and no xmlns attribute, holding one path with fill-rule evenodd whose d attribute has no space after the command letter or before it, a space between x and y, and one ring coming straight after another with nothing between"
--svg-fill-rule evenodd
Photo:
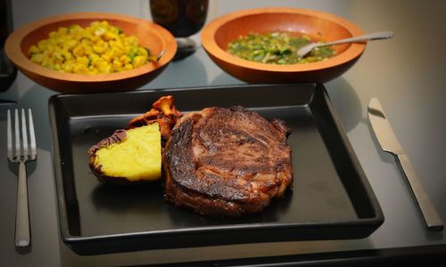
<instances>
[{"instance_id":1,"label":"yellow corn kernels with green bits in wooden bowl","mask_svg":"<svg viewBox=\"0 0 446 267\"><path fill-rule=\"evenodd\" d=\"M48 69L78 74L109 74L136 69L156 58L108 21L93 21L87 28L58 28L29 48L31 61Z\"/></svg>"}]
</instances>

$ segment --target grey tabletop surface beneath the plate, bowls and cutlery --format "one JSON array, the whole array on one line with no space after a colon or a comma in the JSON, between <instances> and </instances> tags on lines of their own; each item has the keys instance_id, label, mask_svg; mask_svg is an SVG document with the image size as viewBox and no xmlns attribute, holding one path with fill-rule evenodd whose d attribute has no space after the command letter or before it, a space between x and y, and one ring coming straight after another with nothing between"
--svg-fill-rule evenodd
<instances>
[{"instance_id":1,"label":"grey tabletop surface beneath the plate, bowls and cutlery","mask_svg":"<svg viewBox=\"0 0 446 267\"><path fill-rule=\"evenodd\" d=\"M120 12L150 19L147 1L12 1L15 28L65 12ZM350 70L328 83L326 90L383 209L385 221L367 239L293 241L217 247L191 247L80 256L60 238L55 195L51 129L47 101L55 92L36 85L20 72L0 99L35 110L37 162L28 165L32 247L14 248L17 166L6 160L6 109L0 105L0 265L96 266L215 261L276 255L317 255L345 251L444 247L444 231L426 231L408 183L390 154L380 150L368 124L368 101L380 99L402 146L411 158L429 197L446 221L446 2L438 1L211 1L211 17L260 6L290 6L332 12L365 32L392 30L392 40L368 44ZM241 85L202 49L172 62L141 89L207 85ZM421 249L421 248L420 248ZM413 253L414 250L411 250ZM444 250L443 250L444 251ZM444 252L443 252L444 253ZM404 253L403 253L404 254ZM409 254L409 253L408 253ZM305 259L303 257L303 259ZM307 259L308 260L308 259Z\"/></svg>"}]
</instances>

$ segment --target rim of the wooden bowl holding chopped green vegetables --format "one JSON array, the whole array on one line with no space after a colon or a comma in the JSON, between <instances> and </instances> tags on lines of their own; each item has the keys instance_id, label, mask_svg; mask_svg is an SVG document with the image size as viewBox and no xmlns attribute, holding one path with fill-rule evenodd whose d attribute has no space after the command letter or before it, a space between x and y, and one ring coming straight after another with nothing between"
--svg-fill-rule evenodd
<instances>
[{"instance_id":1,"label":"rim of the wooden bowl holding chopped green vegetables","mask_svg":"<svg viewBox=\"0 0 446 267\"><path fill-rule=\"evenodd\" d=\"M323 20L332 21L335 24L338 24L348 30L351 33L351 36L359 36L364 34L364 32L356 25L354 25L351 21L338 17L334 14L300 8L268 7L231 12L226 15L222 15L215 20L212 20L202 29L202 46L208 53L211 53L212 56L219 59L219 61L225 61L231 65L239 66L246 69L257 69L271 72L302 72L333 68L359 57L366 48L366 43L352 43L345 51L343 51L343 53L339 53L326 61L310 62L305 64L274 65L240 59L221 49L219 47L219 44L217 44L217 42L215 41L216 32L221 26L227 24L227 22L246 16L261 16L268 13L290 13L297 15L308 15Z\"/></svg>"}]
</instances>

